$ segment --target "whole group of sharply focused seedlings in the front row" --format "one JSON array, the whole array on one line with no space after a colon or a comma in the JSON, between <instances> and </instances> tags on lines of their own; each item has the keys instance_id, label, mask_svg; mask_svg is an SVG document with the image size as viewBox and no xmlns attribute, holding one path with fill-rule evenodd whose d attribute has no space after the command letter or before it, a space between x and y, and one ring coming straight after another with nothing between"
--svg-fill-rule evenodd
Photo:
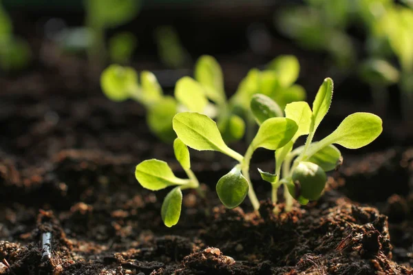
<instances>
[{"instance_id":1,"label":"whole group of sharply focused seedlings in the front row","mask_svg":"<svg viewBox=\"0 0 413 275\"><path fill-rule=\"evenodd\" d=\"M174 144L176 158L187 171L190 164L186 146L198 151L218 151L232 157L237 164L218 181L218 197L227 208L235 208L248 195L253 208L258 210L260 202L251 183L249 167L254 151L257 148L266 148L275 151L275 174L259 170L262 179L273 186L273 202L277 203L276 191L282 184L285 185L286 210L292 208L293 198L301 204L317 200L326 186L326 172L341 164L341 153L332 144L360 148L375 140L382 131L382 122L377 115L353 113L330 135L319 142L313 142L315 131L330 108L331 99L330 78L326 78L321 85L313 102L313 109L310 109L306 102L293 102L286 105L285 118L271 117L280 115L271 98L253 96L251 107L253 113L259 114L257 122L260 123L260 128L244 155L237 153L224 142L217 123L207 115L196 112L178 113L173 117L173 130L178 135ZM294 143L302 135L308 135L306 144L293 150ZM178 222L182 201L180 189L197 188L199 184L193 180L195 176L187 171L189 179L178 179L167 164L162 162L161 165L160 161L154 159L142 162L136 167L136 171L136 179L150 190L178 186L165 199L166 206L162 206L162 219L168 221L165 224L171 226ZM170 220L166 218L169 216L172 217Z\"/></svg>"}]
</instances>

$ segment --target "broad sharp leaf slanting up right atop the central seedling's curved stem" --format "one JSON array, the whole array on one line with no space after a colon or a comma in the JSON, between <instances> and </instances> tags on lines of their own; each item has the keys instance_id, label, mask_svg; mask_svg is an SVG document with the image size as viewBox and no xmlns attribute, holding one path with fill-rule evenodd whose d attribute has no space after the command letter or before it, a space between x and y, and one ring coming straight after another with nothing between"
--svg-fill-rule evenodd
<instances>
[{"instance_id":1,"label":"broad sharp leaf slanting up right atop the central seedling's curved stem","mask_svg":"<svg viewBox=\"0 0 413 275\"><path fill-rule=\"evenodd\" d=\"M262 147L268 150L276 150L287 144L293 138L297 129L298 126L294 120L270 118L261 124L251 144L253 148Z\"/></svg>"}]
</instances>

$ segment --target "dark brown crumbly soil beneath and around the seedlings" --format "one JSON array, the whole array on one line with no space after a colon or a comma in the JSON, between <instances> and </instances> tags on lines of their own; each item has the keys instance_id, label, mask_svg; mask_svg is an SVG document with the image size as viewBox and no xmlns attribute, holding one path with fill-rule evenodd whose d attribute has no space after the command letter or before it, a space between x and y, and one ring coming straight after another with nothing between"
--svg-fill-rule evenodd
<instances>
[{"instance_id":1,"label":"dark brown crumbly soil beneath and around the seedlings","mask_svg":"<svg viewBox=\"0 0 413 275\"><path fill-rule=\"evenodd\" d=\"M248 201L222 207L215 184L233 161L191 151L207 195L184 192L180 221L166 228L166 191L140 187L134 167L156 157L183 175L172 147L138 103L107 100L85 67L69 58L0 79L0 274L413 274L413 148L383 150L396 144L390 131L362 154L343 151L319 201L287 213L279 190L278 215L255 172L260 214ZM251 171L273 170L272 155L258 151Z\"/></svg>"}]
</instances>

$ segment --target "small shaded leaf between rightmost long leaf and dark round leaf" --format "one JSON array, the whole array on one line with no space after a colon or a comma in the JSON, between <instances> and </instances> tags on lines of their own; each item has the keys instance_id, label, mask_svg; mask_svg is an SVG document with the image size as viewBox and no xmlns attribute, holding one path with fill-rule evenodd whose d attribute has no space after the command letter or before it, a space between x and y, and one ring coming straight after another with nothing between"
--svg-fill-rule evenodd
<instances>
[{"instance_id":1,"label":"small shaded leaf between rightmost long leaf and dark round leaf","mask_svg":"<svg viewBox=\"0 0 413 275\"><path fill-rule=\"evenodd\" d=\"M339 149L330 144L311 156L308 162L313 162L313 164L320 166L324 172L328 172L341 165L343 157L341 157Z\"/></svg>"}]
</instances>

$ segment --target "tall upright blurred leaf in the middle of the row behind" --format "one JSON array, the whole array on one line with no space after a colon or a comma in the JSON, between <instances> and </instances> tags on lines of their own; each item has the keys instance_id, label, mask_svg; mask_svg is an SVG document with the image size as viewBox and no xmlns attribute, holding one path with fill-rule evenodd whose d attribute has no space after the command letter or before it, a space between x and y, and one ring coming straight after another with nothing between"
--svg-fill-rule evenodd
<instances>
[{"instance_id":1,"label":"tall upright blurred leaf in the middle of the row behind","mask_svg":"<svg viewBox=\"0 0 413 275\"><path fill-rule=\"evenodd\" d=\"M206 90L213 102L222 104L226 100L224 92L224 77L218 61L213 56L201 56L195 65L195 80Z\"/></svg>"}]
</instances>

